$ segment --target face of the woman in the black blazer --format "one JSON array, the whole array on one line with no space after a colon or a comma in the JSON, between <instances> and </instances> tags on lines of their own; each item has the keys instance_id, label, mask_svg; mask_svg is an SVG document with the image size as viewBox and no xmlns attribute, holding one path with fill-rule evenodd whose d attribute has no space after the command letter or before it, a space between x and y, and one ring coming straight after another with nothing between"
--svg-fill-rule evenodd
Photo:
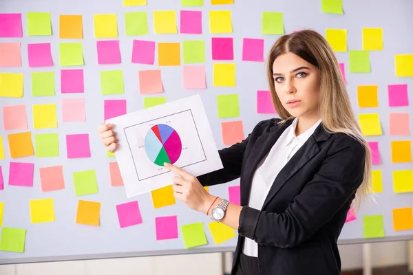
<instances>
[{"instance_id":1,"label":"face of the woman in the black blazer","mask_svg":"<svg viewBox=\"0 0 413 275\"><path fill-rule=\"evenodd\" d=\"M282 106L295 118L318 114L319 69L296 54L278 56L273 63L275 91Z\"/></svg>"}]
</instances>

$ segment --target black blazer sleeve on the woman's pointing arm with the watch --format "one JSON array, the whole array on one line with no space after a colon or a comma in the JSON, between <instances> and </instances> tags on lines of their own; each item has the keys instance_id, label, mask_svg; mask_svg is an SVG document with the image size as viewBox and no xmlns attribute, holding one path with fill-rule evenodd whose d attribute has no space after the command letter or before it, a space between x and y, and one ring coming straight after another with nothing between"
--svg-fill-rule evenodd
<instances>
[{"instance_id":1,"label":"black blazer sleeve on the woman's pointing arm with the watch","mask_svg":"<svg viewBox=\"0 0 413 275\"><path fill-rule=\"evenodd\" d=\"M336 138L329 151L319 171L285 212L243 206L238 233L260 245L290 248L328 223L363 181L366 155L361 143L348 136Z\"/></svg>"}]
</instances>

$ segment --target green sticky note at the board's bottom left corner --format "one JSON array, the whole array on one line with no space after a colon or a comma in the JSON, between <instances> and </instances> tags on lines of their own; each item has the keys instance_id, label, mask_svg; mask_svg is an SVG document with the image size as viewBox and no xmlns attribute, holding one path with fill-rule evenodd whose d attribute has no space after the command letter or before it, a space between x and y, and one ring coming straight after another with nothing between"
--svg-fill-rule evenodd
<instances>
[{"instance_id":1,"label":"green sticky note at the board's bottom left corner","mask_svg":"<svg viewBox=\"0 0 413 275\"><path fill-rule=\"evenodd\" d=\"M1 228L0 250L23 253L25 232L20 228Z\"/></svg>"}]
</instances>

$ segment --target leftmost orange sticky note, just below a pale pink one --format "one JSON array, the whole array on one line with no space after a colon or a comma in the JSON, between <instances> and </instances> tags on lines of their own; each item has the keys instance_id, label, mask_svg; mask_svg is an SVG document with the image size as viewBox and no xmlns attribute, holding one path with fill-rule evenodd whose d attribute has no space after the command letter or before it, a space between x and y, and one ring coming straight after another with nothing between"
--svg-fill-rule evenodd
<instances>
[{"instance_id":1,"label":"leftmost orange sticky note, just below a pale pink one","mask_svg":"<svg viewBox=\"0 0 413 275\"><path fill-rule=\"evenodd\" d=\"M8 143L13 159L34 155L31 132L11 133L8 135Z\"/></svg>"}]
</instances>

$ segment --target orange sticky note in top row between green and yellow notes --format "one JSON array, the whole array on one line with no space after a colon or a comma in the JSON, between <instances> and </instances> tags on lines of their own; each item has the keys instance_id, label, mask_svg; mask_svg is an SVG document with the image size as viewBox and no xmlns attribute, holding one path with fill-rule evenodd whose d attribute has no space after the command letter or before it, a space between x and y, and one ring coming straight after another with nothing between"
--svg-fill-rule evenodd
<instances>
[{"instance_id":1,"label":"orange sticky note in top row between green and yellow notes","mask_svg":"<svg viewBox=\"0 0 413 275\"><path fill-rule=\"evenodd\" d=\"M83 17L59 15L59 39L83 39Z\"/></svg>"}]
</instances>

